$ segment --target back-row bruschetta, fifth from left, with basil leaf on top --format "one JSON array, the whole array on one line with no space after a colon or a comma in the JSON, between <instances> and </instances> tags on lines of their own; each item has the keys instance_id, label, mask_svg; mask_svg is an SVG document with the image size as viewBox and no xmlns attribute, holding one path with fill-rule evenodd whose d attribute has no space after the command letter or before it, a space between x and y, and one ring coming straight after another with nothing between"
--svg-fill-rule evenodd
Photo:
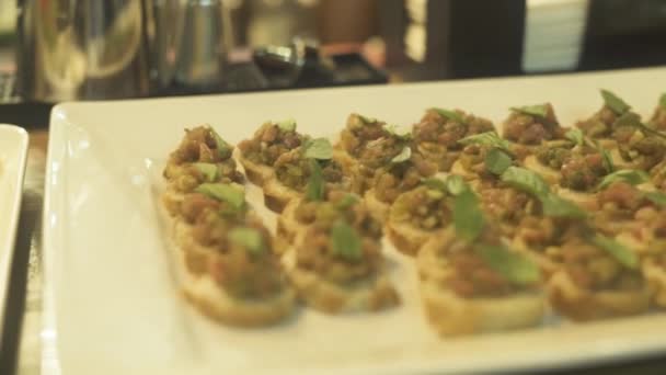
<instances>
[{"instance_id":1,"label":"back-row bruschetta, fifth from left, with basil leaf on top","mask_svg":"<svg viewBox=\"0 0 666 375\"><path fill-rule=\"evenodd\" d=\"M558 123L550 103L512 107L512 114L502 124L503 137L527 149L543 140L564 139L564 129Z\"/></svg>"}]
</instances>

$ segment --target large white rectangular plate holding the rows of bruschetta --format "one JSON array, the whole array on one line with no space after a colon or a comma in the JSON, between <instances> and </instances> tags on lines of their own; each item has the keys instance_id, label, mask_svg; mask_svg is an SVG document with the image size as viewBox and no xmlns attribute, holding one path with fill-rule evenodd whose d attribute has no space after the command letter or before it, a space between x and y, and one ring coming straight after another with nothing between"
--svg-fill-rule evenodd
<instances>
[{"instance_id":1,"label":"large white rectangular plate holding the rows of bruschetta","mask_svg":"<svg viewBox=\"0 0 666 375\"><path fill-rule=\"evenodd\" d=\"M571 124L600 106L599 88L648 115L663 82L661 68L58 105L51 114L44 215L45 371L460 373L666 351L661 314L441 340L423 316L410 260L388 246L401 308L343 317L303 310L275 328L221 327L182 302L153 193L160 166L185 126L210 123L237 143L269 118L295 117L301 132L321 136L338 132L351 112L411 125L426 107L461 107L500 122L510 105L544 101ZM251 189L251 200L257 194Z\"/></svg>"}]
</instances>

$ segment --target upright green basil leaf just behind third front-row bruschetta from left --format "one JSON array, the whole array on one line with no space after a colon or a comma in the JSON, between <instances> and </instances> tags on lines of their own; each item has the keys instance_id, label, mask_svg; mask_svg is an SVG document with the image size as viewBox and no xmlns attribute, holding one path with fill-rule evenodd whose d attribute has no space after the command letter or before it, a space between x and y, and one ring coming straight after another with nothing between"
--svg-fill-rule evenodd
<instances>
[{"instance_id":1,"label":"upright green basil leaf just behind third front-row bruschetta from left","mask_svg":"<svg viewBox=\"0 0 666 375\"><path fill-rule=\"evenodd\" d=\"M456 234L468 242L474 241L483 230L484 218L476 194L463 190L453 200L453 227Z\"/></svg>"}]
</instances>

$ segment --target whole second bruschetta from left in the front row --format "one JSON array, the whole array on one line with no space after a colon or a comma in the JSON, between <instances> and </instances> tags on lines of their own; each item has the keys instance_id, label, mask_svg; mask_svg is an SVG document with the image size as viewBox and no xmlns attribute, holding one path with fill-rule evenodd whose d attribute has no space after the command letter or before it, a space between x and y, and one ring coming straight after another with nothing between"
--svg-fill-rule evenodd
<instances>
[{"instance_id":1,"label":"whole second bruschetta from left in the front row","mask_svg":"<svg viewBox=\"0 0 666 375\"><path fill-rule=\"evenodd\" d=\"M299 296L326 314L397 306L381 253L381 230L363 205L341 212L325 203L300 243L287 253Z\"/></svg>"}]
</instances>

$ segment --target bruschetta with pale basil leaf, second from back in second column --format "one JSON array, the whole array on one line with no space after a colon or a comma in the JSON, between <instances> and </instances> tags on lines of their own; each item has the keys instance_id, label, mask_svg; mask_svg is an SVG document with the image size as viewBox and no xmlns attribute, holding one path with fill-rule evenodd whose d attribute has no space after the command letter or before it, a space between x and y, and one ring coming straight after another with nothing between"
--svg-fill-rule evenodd
<instances>
[{"instance_id":1,"label":"bruschetta with pale basil leaf, second from back in second column","mask_svg":"<svg viewBox=\"0 0 666 375\"><path fill-rule=\"evenodd\" d=\"M274 170L275 175L264 181L263 191L266 207L276 213L280 213L290 201L300 198L308 189L359 190L355 177L345 175L341 163L333 158L333 148L325 138L309 139L280 155Z\"/></svg>"}]
</instances>

